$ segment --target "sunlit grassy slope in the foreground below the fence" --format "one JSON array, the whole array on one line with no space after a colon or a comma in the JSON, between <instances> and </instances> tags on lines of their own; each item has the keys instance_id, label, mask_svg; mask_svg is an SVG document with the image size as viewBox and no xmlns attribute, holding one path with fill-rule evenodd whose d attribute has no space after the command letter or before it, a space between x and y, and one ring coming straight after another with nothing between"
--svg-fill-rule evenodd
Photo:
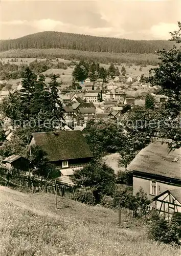
<instances>
[{"instance_id":1,"label":"sunlit grassy slope in the foreground below the fence","mask_svg":"<svg viewBox=\"0 0 181 256\"><path fill-rule=\"evenodd\" d=\"M53 195L1 187L1 255L179 255L176 249L151 243L135 223L128 223L130 229L118 228L112 210L63 198L58 207Z\"/></svg>"}]
</instances>

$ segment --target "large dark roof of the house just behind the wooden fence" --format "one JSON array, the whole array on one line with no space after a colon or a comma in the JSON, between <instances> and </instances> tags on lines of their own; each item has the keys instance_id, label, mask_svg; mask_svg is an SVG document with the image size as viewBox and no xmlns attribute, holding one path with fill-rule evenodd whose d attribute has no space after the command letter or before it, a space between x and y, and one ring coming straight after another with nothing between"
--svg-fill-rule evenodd
<instances>
[{"instance_id":1,"label":"large dark roof of the house just behind the wooden fence","mask_svg":"<svg viewBox=\"0 0 181 256\"><path fill-rule=\"evenodd\" d=\"M47 152L49 160L69 160L93 157L80 131L32 133L35 145Z\"/></svg>"}]
</instances>

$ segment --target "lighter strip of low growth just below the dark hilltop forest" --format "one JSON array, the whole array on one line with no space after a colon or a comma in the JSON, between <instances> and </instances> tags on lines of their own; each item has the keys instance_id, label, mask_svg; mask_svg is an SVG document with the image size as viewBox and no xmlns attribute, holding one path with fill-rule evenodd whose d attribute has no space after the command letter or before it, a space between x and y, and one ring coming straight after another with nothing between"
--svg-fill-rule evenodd
<instances>
[{"instance_id":1,"label":"lighter strip of low growth just below the dark hilltop forest","mask_svg":"<svg viewBox=\"0 0 181 256\"><path fill-rule=\"evenodd\" d=\"M1 52L1 58L62 58L66 60L88 60L99 63L135 63L136 65L157 65L158 55L152 53L108 53L67 49L23 49Z\"/></svg>"}]
</instances>

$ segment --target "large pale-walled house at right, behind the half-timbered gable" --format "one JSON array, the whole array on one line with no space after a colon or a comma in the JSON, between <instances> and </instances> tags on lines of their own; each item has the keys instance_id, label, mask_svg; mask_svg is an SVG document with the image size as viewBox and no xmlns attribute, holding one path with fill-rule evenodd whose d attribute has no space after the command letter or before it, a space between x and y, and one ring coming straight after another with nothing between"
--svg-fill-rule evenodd
<instances>
[{"instance_id":1,"label":"large pale-walled house at right, behind the half-timbered gable","mask_svg":"<svg viewBox=\"0 0 181 256\"><path fill-rule=\"evenodd\" d=\"M143 148L128 166L133 172L133 194L140 186L150 200L166 190L181 187L181 151L170 151L169 139L157 139Z\"/></svg>"}]
</instances>

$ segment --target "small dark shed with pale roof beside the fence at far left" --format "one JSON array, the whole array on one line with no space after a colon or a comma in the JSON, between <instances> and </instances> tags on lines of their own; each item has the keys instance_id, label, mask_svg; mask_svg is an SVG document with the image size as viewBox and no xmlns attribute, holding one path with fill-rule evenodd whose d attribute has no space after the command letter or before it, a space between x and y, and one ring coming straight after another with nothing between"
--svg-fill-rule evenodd
<instances>
[{"instance_id":1,"label":"small dark shed with pale roof beside the fence at far left","mask_svg":"<svg viewBox=\"0 0 181 256\"><path fill-rule=\"evenodd\" d=\"M19 169L25 172L29 171L29 160L19 155L11 155L3 160L8 169Z\"/></svg>"}]
</instances>

